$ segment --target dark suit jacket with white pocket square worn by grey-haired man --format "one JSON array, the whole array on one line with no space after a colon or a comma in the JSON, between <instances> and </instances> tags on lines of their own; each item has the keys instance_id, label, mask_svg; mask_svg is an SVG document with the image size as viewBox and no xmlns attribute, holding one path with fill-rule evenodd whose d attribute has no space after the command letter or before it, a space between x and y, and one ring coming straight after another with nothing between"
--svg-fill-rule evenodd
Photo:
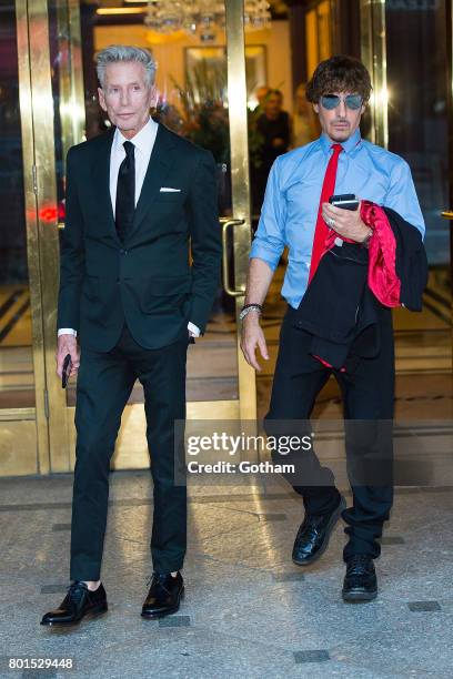
<instances>
[{"instance_id":1,"label":"dark suit jacket with white pocket square worn by grey-haired man","mask_svg":"<svg viewBox=\"0 0 453 679\"><path fill-rule=\"evenodd\" d=\"M68 153L58 327L72 327L82 346L108 352L125 321L141 346L159 348L187 336L188 321L201 332L208 323L221 264L215 164L210 152L159 124L121 243L109 190L113 134Z\"/></svg>"}]
</instances>

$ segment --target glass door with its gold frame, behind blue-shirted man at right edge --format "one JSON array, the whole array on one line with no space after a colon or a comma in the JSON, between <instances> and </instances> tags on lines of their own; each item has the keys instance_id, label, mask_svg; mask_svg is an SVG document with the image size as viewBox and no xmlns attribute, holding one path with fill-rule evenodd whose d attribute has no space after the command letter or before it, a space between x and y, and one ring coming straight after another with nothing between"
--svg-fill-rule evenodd
<instances>
[{"instance_id":1,"label":"glass door with its gold frame, behind blue-shirted man at right edge","mask_svg":"<svg viewBox=\"0 0 453 679\"><path fill-rule=\"evenodd\" d=\"M452 170L451 81L445 72L450 4L361 1L362 55L374 82L371 140L409 162L426 223L430 276L423 312L394 311L396 371L419 378L424 373L425 389L433 383L437 392L442 379L442 388L450 389L452 371L450 229L442 219Z\"/></svg>"}]
</instances>

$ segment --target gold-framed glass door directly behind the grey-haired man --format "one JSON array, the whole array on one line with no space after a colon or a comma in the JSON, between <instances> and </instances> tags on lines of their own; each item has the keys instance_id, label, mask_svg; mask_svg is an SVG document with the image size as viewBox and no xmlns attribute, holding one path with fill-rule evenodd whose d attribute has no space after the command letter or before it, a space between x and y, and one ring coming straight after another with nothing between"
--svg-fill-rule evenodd
<instances>
[{"instance_id":1,"label":"gold-framed glass door directly behind the grey-haired man","mask_svg":"<svg viewBox=\"0 0 453 679\"><path fill-rule=\"evenodd\" d=\"M47 107L47 130L54 140L46 149L53 172L49 237L58 240L64 229L68 148L101 134L110 124L97 101L95 53L113 43L149 49L158 62L153 118L209 149L218 169L222 284L204 336L189 347L188 417L253 419L254 373L242 358L238 336L251 241L243 2L231 0L225 11L218 3L215 13L191 27L179 27L178 17L172 18L173 24L171 17L159 22L148 13L148 3L135 6L112 8L111 3L83 0L42 3L51 91L42 104ZM39 63L37 60L32 69ZM254 87L252 82L249 90ZM57 272L58 257L51 257L49 265ZM48 346L53 353L54 317L51 322ZM51 468L69 469L74 462L76 384L62 392L56 375L49 379L53 385L49 389L50 438L64 442L51 448ZM149 465L144 430L143 392L137 383L123 414L115 468Z\"/></svg>"}]
</instances>

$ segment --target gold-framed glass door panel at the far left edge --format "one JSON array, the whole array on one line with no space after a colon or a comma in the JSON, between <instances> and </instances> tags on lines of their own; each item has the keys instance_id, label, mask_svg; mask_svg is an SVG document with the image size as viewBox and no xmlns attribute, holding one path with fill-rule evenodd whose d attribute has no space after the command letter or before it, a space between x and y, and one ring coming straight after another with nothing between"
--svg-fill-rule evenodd
<instances>
[{"instance_id":1,"label":"gold-framed glass door panel at the far left edge","mask_svg":"<svg viewBox=\"0 0 453 679\"><path fill-rule=\"evenodd\" d=\"M44 223L37 181L27 0L0 7L0 476L49 472L41 304Z\"/></svg>"}]
</instances>

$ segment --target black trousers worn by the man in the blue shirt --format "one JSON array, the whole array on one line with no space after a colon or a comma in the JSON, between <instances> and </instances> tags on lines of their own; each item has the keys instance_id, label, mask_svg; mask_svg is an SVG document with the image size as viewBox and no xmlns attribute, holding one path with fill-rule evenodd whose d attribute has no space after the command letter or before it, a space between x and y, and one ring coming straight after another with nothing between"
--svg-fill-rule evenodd
<instances>
[{"instance_id":1,"label":"black trousers worn by the man in the blue shirt","mask_svg":"<svg viewBox=\"0 0 453 679\"><path fill-rule=\"evenodd\" d=\"M379 354L351 362L346 373L324 367L310 354L311 335L293 327L293 315L294 310L289 306L280 332L265 429L268 434L282 434L284 420L292 420L288 423L286 429L291 429L288 433L294 433L294 423L298 422L306 433L315 397L334 374L343 396L346 464L353 493L352 507L343 511L349 536L343 558L348 560L355 554L375 558L380 555L378 538L382 535L383 523L389 519L393 500L394 346L391 312L381 305L378 310ZM332 472L321 466L313 448L299 454L299 463L302 464L298 474L286 478L302 495L305 511L330 513L339 499Z\"/></svg>"}]
</instances>

